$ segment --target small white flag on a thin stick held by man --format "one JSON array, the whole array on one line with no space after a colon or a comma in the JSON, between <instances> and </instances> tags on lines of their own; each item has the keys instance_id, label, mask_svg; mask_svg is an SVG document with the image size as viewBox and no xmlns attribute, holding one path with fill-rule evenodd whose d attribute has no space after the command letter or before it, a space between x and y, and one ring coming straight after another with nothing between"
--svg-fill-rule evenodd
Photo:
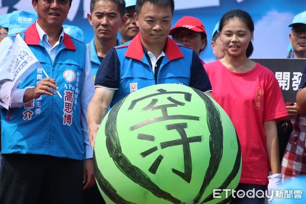
<instances>
[{"instance_id":1,"label":"small white flag on a thin stick held by man","mask_svg":"<svg viewBox=\"0 0 306 204\"><path fill-rule=\"evenodd\" d=\"M20 82L41 64L31 49L17 34L12 49L5 50L8 55L5 62L0 62L0 108L9 108L11 95Z\"/></svg>"}]
</instances>

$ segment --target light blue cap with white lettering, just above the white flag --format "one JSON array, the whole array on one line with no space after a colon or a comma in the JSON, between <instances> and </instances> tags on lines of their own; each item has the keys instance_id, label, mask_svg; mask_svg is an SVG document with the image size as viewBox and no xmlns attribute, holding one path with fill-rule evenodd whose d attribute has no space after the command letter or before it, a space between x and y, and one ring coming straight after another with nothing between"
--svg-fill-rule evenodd
<instances>
[{"instance_id":1,"label":"light blue cap with white lettering, just above the white flag","mask_svg":"<svg viewBox=\"0 0 306 204\"><path fill-rule=\"evenodd\" d=\"M36 11L13 11L10 15L8 35L20 33L37 19Z\"/></svg>"}]
</instances>

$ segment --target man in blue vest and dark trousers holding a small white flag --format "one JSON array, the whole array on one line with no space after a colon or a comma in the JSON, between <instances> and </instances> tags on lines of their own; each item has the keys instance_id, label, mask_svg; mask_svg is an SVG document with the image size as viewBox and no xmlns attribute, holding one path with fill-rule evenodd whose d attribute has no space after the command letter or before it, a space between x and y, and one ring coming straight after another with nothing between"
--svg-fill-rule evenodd
<instances>
[{"instance_id":1,"label":"man in blue vest and dark trousers holding a small white flag","mask_svg":"<svg viewBox=\"0 0 306 204\"><path fill-rule=\"evenodd\" d=\"M86 122L94 93L87 47L63 31L71 0L32 5L38 20L19 34L42 67L19 84L9 110L1 109L0 203L83 204L83 190L95 184ZM15 37L6 37L0 50L10 50Z\"/></svg>"}]
</instances>

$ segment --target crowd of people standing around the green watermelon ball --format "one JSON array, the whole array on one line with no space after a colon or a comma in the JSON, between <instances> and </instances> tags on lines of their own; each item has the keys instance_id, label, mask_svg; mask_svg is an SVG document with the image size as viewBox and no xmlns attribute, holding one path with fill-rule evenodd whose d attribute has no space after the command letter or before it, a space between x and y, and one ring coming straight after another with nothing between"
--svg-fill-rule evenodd
<instances>
[{"instance_id":1,"label":"crowd of people standing around the green watermelon ball","mask_svg":"<svg viewBox=\"0 0 306 204\"><path fill-rule=\"evenodd\" d=\"M285 104L274 73L249 59L254 23L246 11L230 10L216 23L216 61L205 63L199 58L208 46L205 25L184 16L171 28L173 0L91 0L88 44L82 30L64 24L71 4L32 0L35 12L24 11L31 19L19 25L10 18L20 11L0 17L0 50L9 53L19 33L42 65L10 97L2 89L7 81L0 83L0 96L10 98L10 108L0 110L0 203L105 203L92 159L99 125L124 96L164 83L206 93L231 118L242 152L237 190L271 194L282 180L306 174L306 65L296 103ZM306 11L289 27L288 56L306 58ZM284 156L279 122L293 129Z\"/></svg>"}]
</instances>

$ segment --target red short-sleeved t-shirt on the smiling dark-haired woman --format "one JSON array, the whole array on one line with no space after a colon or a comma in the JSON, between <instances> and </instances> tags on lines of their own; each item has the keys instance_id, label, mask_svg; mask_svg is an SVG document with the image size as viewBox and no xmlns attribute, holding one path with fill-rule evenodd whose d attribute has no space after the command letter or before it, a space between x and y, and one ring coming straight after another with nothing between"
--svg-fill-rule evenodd
<instances>
[{"instance_id":1,"label":"red short-sleeved t-shirt on the smiling dark-haired woman","mask_svg":"<svg viewBox=\"0 0 306 204\"><path fill-rule=\"evenodd\" d=\"M231 118L241 144L240 183L267 185L270 165L263 122L288 115L281 89L268 68L257 64L237 73L219 60L204 65L217 103Z\"/></svg>"}]
</instances>

